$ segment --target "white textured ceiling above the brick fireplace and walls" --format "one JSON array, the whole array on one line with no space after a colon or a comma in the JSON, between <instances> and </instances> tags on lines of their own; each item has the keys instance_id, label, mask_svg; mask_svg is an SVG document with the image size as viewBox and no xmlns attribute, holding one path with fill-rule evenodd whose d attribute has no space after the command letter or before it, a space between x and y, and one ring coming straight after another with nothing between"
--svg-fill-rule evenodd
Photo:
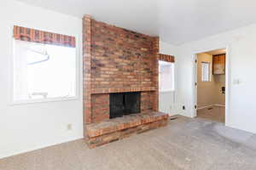
<instances>
[{"instance_id":1,"label":"white textured ceiling above the brick fireplace and walls","mask_svg":"<svg viewBox=\"0 0 256 170\"><path fill-rule=\"evenodd\" d=\"M19 0L182 44L256 22L255 0Z\"/></svg>"}]
</instances>

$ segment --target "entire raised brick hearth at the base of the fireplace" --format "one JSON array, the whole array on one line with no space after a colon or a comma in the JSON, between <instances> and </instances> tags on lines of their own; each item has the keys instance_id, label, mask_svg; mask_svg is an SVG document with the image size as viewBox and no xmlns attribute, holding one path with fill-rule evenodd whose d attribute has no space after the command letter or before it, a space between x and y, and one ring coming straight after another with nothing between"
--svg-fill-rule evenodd
<instances>
[{"instance_id":1,"label":"entire raised brick hearth at the base of the fireplace","mask_svg":"<svg viewBox=\"0 0 256 170\"><path fill-rule=\"evenodd\" d=\"M157 127L164 127L167 123L167 114L154 111L91 123L86 127L87 143L90 148L94 148L119 139L125 139L132 134L144 133Z\"/></svg>"}]
</instances>

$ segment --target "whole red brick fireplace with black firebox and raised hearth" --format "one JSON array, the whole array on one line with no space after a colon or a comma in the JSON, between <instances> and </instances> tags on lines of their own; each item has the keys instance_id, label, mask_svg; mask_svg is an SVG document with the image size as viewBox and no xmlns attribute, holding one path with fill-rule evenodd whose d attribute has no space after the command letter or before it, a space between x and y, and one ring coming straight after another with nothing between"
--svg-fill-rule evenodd
<instances>
[{"instance_id":1,"label":"whole red brick fireplace with black firebox and raised hearth","mask_svg":"<svg viewBox=\"0 0 256 170\"><path fill-rule=\"evenodd\" d=\"M89 146L165 126L168 115L158 111L159 38L89 15L83 33L84 137Z\"/></svg>"}]
</instances>

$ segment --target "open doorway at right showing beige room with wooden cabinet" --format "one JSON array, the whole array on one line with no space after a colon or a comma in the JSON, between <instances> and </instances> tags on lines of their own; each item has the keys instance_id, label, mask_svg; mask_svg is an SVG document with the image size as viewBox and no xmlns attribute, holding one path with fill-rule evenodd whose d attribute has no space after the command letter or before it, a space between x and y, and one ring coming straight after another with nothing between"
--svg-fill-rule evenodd
<instances>
[{"instance_id":1,"label":"open doorway at right showing beige room with wooden cabinet","mask_svg":"<svg viewBox=\"0 0 256 170\"><path fill-rule=\"evenodd\" d=\"M226 49L195 54L195 116L225 123Z\"/></svg>"}]
</instances>

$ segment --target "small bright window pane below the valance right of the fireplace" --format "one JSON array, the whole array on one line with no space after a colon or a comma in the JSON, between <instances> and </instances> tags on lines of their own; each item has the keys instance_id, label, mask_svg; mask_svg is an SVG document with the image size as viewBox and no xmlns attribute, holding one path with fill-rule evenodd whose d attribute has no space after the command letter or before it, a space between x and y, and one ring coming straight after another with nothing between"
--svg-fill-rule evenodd
<instances>
[{"instance_id":1,"label":"small bright window pane below the valance right of the fireplace","mask_svg":"<svg viewBox=\"0 0 256 170\"><path fill-rule=\"evenodd\" d=\"M160 91L174 91L174 63L159 61Z\"/></svg>"}]
</instances>

